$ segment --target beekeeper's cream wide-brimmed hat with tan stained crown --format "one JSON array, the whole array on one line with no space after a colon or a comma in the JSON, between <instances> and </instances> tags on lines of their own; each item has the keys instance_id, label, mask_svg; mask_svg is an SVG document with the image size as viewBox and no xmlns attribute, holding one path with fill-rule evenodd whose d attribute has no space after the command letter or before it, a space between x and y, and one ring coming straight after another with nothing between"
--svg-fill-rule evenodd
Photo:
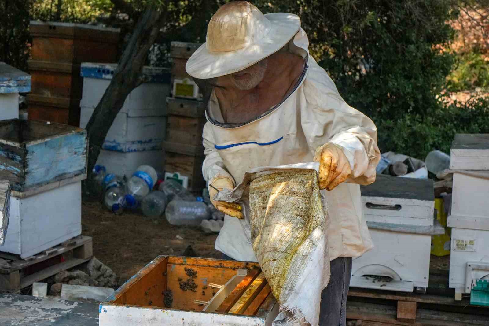
<instances>
[{"instance_id":1,"label":"beekeeper's cream wide-brimmed hat with tan stained crown","mask_svg":"<svg viewBox=\"0 0 489 326\"><path fill-rule=\"evenodd\" d=\"M244 70L278 51L300 28L297 15L262 14L247 1L224 4L207 26L205 43L185 70L195 78L214 78Z\"/></svg>"}]
</instances>

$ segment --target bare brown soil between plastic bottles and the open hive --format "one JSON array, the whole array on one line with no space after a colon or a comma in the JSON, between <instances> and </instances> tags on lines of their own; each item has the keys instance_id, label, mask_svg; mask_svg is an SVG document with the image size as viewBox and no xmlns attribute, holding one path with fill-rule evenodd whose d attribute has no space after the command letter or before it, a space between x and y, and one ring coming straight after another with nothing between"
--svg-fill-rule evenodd
<instances>
[{"instance_id":1,"label":"bare brown soil between plastic bottles and the open hive","mask_svg":"<svg viewBox=\"0 0 489 326\"><path fill-rule=\"evenodd\" d=\"M82 234L93 237L93 255L117 274L119 284L156 256L181 256L188 245L200 257L221 257L214 249L217 234L173 226L164 216L155 219L133 211L115 215L89 198L82 201Z\"/></svg>"}]
</instances>

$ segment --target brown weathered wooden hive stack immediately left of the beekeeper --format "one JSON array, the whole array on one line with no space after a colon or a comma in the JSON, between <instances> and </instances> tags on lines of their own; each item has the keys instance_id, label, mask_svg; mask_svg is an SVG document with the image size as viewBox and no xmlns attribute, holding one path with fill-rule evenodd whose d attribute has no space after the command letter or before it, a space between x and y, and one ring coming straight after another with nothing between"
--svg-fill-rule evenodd
<instances>
[{"instance_id":1,"label":"brown weathered wooden hive stack immediately left of the beekeeper","mask_svg":"<svg viewBox=\"0 0 489 326\"><path fill-rule=\"evenodd\" d=\"M172 42L172 82L191 78L185 72L185 64L200 44ZM163 146L166 150L166 172L178 172L189 178L190 190L205 187L202 176L204 147L202 130L205 124L205 108L199 99L167 98L168 123Z\"/></svg>"}]
</instances>

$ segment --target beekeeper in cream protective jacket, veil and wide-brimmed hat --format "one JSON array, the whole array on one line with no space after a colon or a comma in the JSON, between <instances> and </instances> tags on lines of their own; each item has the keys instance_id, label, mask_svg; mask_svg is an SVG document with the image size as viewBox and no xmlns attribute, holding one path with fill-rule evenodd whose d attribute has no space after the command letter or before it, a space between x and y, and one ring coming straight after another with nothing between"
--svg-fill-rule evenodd
<instances>
[{"instance_id":1,"label":"beekeeper in cream protective jacket, veil and wide-brimmed hat","mask_svg":"<svg viewBox=\"0 0 489 326\"><path fill-rule=\"evenodd\" d=\"M346 325L352 257L372 248L358 185L375 181L377 128L341 98L308 46L298 16L263 15L247 1L233 1L211 18L206 42L186 70L210 90L202 172L212 185L211 199L215 188L234 188L254 167L320 162L331 280L319 325ZM226 213L216 249L224 257L257 261L236 218L242 213L213 204Z\"/></svg>"}]
</instances>

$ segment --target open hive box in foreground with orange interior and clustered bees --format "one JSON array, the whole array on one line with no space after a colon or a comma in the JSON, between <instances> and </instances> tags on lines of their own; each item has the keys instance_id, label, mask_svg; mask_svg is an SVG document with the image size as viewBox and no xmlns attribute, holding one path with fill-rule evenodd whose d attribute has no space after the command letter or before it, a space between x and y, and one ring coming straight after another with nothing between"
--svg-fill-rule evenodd
<instances>
[{"instance_id":1,"label":"open hive box in foreground with orange interior and clustered bees","mask_svg":"<svg viewBox=\"0 0 489 326\"><path fill-rule=\"evenodd\" d=\"M220 293L213 287L214 284L230 284L239 270L256 268L255 264L219 259L158 256L100 304L99 324L100 326L271 325L278 314L278 304L270 292L267 296L260 296L261 293L256 296L248 306L252 309L246 309L242 314L203 311L204 308L209 309L211 305L210 303L206 305L205 302L211 301L214 296L216 297L214 300L219 299ZM189 278L191 275L189 269L192 274L197 273L193 278ZM188 284L189 279L190 283L193 281L197 285L195 292L182 289L186 288L185 284ZM213 291L216 294L213 294ZM231 295L227 296L230 297Z\"/></svg>"}]
</instances>

